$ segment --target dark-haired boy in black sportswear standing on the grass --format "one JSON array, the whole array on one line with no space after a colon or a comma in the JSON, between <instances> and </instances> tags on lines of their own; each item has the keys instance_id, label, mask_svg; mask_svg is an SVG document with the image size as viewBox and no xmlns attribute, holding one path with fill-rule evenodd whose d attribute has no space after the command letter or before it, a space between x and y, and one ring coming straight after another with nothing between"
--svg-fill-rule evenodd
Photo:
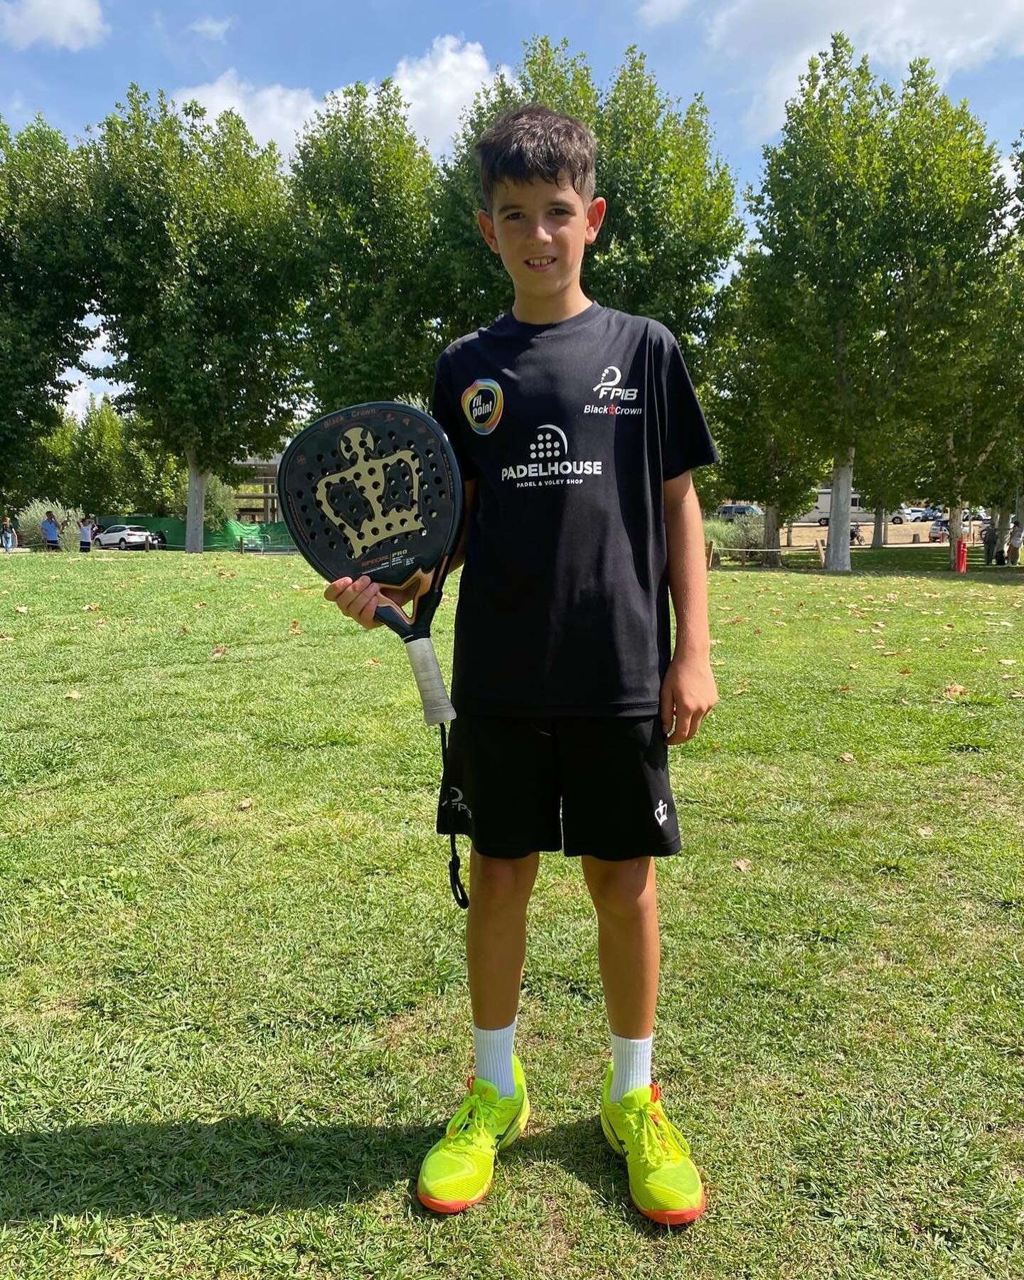
<instances>
[{"instance_id":1,"label":"dark-haired boy in black sportswear standing on the grass","mask_svg":"<svg viewBox=\"0 0 1024 1280\"><path fill-rule=\"evenodd\" d=\"M433 413L466 480L452 724L438 829L472 838L466 928L476 1074L419 1179L458 1212L530 1114L513 1055L538 850L580 856L598 915L612 1033L600 1101L634 1203L690 1222L704 1190L650 1078L659 940L654 859L680 847L667 745L717 701L700 507L716 461L675 339L580 285L605 202L594 140L527 106L477 143L480 232L512 279L511 315L438 361ZM339 579L364 626L385 589ZM671 653L669 594L676 613ZM399 593L390 596L401 598ZM559 820L561 806L561 820Z\"/></svg>"}]
</instances>

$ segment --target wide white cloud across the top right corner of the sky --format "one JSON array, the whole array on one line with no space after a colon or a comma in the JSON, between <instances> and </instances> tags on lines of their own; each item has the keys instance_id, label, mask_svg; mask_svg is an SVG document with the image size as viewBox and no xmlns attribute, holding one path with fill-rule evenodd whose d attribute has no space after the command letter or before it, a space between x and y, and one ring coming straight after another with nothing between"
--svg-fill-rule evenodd
<instances>
[{"instance_id":1,"label":"wide white cloud across the top right corner of the sky","mask_svg":"<svg viewBox=\"0 0 1024 1280\"><path fill-rule=\"evenodd\" d=\"M686 0L645 0L639 13L664 23L686 8ZM1024 54L1024 0L701 0L696 12L710 47L749 68L748 125L759 138L782 123L797 76L835 31L845 31L858 52L890 77L919 56L945 81L995 56Z\"/></svg>"}]
</instances>

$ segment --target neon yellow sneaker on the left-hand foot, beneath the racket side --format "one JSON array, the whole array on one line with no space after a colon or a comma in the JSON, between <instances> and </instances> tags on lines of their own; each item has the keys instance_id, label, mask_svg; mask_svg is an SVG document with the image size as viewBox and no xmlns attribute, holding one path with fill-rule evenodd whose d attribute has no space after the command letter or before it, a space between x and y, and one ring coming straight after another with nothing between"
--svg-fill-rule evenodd
<instances>
[{"instance_id":1,"label":"neon yellow sneaker on the left-hand foot, beneath the racket side","mask_svg":"<svg viewBox=\"0 0 1024 1280\"><path fill-rule=\"evenodd\" d=\"M490 1190L494 1157L526 1128L530 1100L515 1055L512 1071L516 1092L511 1098L499 1098L489 1080L470 1076L462 1106L424 1157L416 1193L435 1213L461 1213L479 1204Z\"/></svg>"}]
</instances>

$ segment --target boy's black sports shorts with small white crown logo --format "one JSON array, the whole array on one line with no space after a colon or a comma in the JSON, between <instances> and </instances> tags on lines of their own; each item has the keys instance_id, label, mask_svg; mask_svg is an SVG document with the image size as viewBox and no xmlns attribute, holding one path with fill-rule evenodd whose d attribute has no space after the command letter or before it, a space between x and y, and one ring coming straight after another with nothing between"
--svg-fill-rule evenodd
<instances>
[{"instance_id":1,"label":"boy's black sports shorts with small white crown logo","mask_svg":"<svg viewBox=\"0 0 1024 1280\"><path fill-rule=\"evenodd\" d=\"M607 861L678 852L660 718L460 714L438 833L468 836L486 858L563 845Z\"/></svg>"}]
</instances>

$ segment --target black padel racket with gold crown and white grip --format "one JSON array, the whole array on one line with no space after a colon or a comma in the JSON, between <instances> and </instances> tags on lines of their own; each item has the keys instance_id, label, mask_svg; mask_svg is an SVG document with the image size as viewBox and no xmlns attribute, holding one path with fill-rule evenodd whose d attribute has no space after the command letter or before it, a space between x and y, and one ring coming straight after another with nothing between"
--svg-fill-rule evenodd
<instances>
[{"instance_id":1,"label":"black padel racket with gold crown and white grip","mask_svg":"<svg viewBox=\"0 0 1024 1280\"><path fill-rule=\"evenodd\" d=\"M430 640L462 525L462 479L448 436L408 404L374 402L325 413L278 467L282 513L296 547L329 581L366 576L412 590L375 617L406 643L428 724L454 719Z\"/></svg>"}]
</instances>

